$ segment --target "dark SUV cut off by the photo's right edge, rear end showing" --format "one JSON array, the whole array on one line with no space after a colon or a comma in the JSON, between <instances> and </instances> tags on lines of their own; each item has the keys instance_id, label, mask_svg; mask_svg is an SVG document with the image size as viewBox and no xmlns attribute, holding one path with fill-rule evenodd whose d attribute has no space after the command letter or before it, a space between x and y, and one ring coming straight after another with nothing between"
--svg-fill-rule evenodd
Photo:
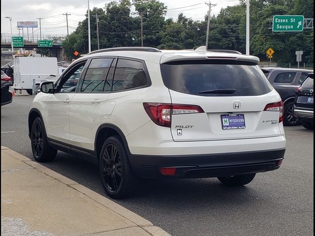
<instances>
[{"instance_id":1,"label":"dark SUV cut off by the photo's right edge, rear end showing","mask_svg":"<svg viewBox=\"0 0 315 236\"><path fill-rule=\"evenodd\" d=\"M307 129L314 129L314 74L309 74L301 87L296 89L294 114Z\"/></svg>"}]
</instances>

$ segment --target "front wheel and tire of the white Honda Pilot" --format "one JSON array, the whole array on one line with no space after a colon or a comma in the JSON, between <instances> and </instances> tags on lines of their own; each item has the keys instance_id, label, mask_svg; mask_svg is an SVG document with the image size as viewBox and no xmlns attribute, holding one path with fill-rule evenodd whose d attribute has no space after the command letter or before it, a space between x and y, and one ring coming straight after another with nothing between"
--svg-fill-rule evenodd
<instances>
[{"instance_id":1,"label":"front wheel and tire of the white Honda Pilot","mask_svg":"<svg viewBox=\"0 0 315 236\"><path fill-rule=\"evenodd\" d=\"M31 144L33 156L36 161L48 162L55 159L57 150L49 146L45 127L39 117L35 118L32 123Z\"/></svg>"}]
</instances>

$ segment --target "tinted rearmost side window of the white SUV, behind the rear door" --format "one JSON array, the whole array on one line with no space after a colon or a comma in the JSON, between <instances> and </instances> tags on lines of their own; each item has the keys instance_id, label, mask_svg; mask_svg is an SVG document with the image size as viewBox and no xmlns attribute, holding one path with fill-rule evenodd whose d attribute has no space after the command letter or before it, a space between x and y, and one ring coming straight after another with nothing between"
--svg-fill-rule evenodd
<instances>
[{"instance_id":1,"label":"tinted rearmost side window of the white SUV, behind the rear door","mask_svg":"<svg viewBox=\"0 0 315 236\"><path fill-rule=\"evenodd\" d=\"M118 59L112 91L120 91L146 86L147 77L142 62Z\"/></svg>"}]
</instances>

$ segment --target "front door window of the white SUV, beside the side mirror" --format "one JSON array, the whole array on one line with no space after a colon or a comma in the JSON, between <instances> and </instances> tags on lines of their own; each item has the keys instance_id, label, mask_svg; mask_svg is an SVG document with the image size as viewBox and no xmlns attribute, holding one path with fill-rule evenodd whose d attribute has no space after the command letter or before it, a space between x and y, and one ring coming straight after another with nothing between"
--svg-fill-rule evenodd
<instances>
[{"instance_id":1,"label":"front door window of the white SUV, beside the side mirror","mask_svg":"<svg viewBox=\"0 0 315 236\"><path fill-rule=\"evenodd\" d=\"M76 64L55 84L56 92L74 92L86 61Z\"/></svg>"}]
</instances>

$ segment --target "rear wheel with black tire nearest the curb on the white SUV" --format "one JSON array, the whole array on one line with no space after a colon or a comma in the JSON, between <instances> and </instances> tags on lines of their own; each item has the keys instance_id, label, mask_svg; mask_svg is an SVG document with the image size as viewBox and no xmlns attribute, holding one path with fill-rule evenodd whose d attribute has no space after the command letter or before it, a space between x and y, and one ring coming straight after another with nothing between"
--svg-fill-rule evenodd
<instances>
[{"instance_id":1,"label":"rear wheel with black tire nearest the curb on the white SUV","mask_svg":"<svg viewBox=\"0 0 315 236\"><path fill-rule=\"evenodd\" d=\"M99 156L99 172L105 192L111 198L130 197L137 189L137 178L118 136L111 136L104 142Z\"/></svg>"}]
</instances>

